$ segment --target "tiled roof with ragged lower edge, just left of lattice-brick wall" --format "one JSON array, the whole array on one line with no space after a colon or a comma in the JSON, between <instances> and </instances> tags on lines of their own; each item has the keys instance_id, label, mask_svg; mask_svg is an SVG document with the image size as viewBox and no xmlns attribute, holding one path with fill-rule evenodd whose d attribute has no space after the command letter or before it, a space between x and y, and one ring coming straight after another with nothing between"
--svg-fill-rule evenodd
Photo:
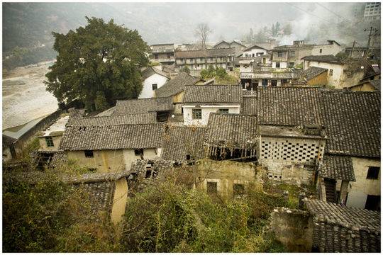
<instances>
[{"instance_id":1,"label":"tiled roof with ragged lower edge, just left of lattice-brick wall","mask_svg":"<svg viewBox=\"0 0 383 255\"><path fill-rule=\"evenodd\" d=\"M205 142L231 148L253 148L257 144L257 118L239 114L211 113Z\"/></svg>"}]
</instances>

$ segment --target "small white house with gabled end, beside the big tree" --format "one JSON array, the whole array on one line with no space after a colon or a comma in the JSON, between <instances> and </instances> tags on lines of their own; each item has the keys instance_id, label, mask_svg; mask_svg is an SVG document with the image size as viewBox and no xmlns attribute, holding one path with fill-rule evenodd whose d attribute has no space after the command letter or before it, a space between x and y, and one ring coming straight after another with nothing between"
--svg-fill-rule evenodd
<instances>
[{"instance_id":1,"label":"small white house with gabled end, beside the big tree","mask_svg":"<svg viewBox=\"0 0 383 255\"><path fill-rule=\"evenodd\" d=\"M143 90L138 98L155 97L155 90L159 89L169 79L165 72L156 67L148 67L141 72L143 77Z\"/></svg>"}]
</instances>

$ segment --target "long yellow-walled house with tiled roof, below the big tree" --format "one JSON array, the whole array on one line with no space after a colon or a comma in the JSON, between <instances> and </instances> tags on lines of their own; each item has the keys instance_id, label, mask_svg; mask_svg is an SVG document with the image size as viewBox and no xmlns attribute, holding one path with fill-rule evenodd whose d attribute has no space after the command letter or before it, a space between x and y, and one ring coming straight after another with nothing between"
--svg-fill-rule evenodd
<instances>
[{"instance_id":1,"label":"long yellow-walled house with tiled roof, below the big tree","mask_svg":"<svg viewBox=\"0 0 383 255\"><path fill-rule=\"evenodd\" d=\"M60 150L92 171L125 171L136 159L160 157L163 129L161 123L115 124L113 118L99 125L67 125Z\"/></svg>"}]
</instances>

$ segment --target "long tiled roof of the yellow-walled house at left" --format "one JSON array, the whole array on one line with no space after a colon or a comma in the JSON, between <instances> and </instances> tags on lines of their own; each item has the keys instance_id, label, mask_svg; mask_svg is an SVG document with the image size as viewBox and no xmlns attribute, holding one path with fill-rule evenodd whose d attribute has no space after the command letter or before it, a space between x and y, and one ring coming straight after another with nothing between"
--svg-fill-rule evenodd
<instances>
[{"instance_id":1,"label":"long tiled roof of the yellow-walled house at left","mask_svg":"<svg viewBox=\"0 0 383 255\"><path fill-rule=\"evenodd\" d=\"M60 143L62 150L141 149L162 145L163 124L69 126Z\"/></svg>"}]
</instances>

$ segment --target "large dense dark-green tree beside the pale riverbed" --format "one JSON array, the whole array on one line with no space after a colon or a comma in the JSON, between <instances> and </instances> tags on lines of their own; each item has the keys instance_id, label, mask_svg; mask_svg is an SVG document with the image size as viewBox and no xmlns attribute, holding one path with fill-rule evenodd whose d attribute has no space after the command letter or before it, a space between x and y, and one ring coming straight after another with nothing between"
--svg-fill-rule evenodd
<instances>
[{"instance_id":1,"label":"large dense dark-green tree beside the pale riverbed","mask_svg":"<svg viewBox=\"0 0 383 255\"><path fill-rule=\"evenodd\" d=\"M59 102L77 99L91 110L113 106L117 99L137 98L140 67L148 64L149 47L137 30L113 19L87 18L88 24L66 35L52 33L57 61L46 74L47 90Z\"/></svg>"}]
</instances>

